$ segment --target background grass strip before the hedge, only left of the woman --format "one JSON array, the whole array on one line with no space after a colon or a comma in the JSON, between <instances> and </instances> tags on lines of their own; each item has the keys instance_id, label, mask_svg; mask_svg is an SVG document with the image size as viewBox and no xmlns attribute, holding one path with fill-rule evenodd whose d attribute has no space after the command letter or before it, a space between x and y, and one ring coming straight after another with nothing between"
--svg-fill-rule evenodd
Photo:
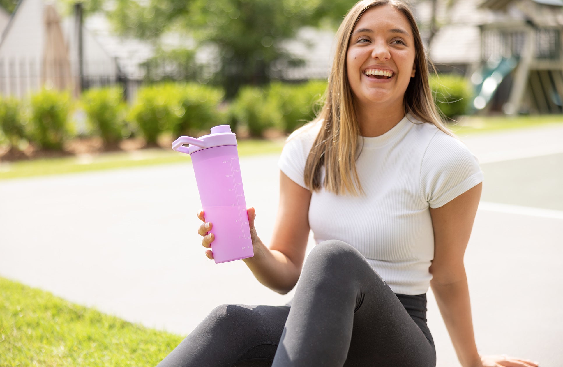
<instances>
[{"instance_id":1,"label":"background grass strip before the hedge, only left of the woman","mask_svg":"<svg viewBox=\"0 0 563 367\"><path fill-rule=\"evenodd\" d=\"M242 140L239 155L279 153L283 140ZM189 162L190 156L172 149L143 149L131 153L103 153L68 158L36 159L14 163L0 162L0 180L6 178L46 176L50 174L100 171L102 169L138 167Z\"/></svg>"}]
</instances>

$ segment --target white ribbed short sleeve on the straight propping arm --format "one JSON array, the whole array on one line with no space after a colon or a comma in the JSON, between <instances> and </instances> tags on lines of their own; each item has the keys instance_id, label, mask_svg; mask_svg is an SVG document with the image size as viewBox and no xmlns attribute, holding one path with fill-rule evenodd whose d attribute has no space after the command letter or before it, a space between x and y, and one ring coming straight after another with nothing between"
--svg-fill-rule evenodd
<instances>
[{"instance_id":1,"label":"white ribbed short sleeve on the straight propping arm","mask_svg":"<svg viewBox=\"0 0 563 367\"><path fill-rule=\"evenodd\" d=\"M477 157L456 138L437 131L422 158L421 191L439 208L483 181Z\"/></svg>"}]
</instances>

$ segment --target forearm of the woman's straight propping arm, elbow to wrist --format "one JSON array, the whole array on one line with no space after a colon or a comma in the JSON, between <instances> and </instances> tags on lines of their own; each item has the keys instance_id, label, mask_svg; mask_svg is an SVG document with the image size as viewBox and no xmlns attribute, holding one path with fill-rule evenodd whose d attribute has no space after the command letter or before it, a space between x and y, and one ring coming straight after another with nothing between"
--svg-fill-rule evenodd
<instances>
[{"instance_id":1,"label":"forearm of the woman's straight propping arm, elbow to wrist","mask_svg":"<svg viewBox=\"0 0 563 367\"><path fill-rule=\"evenodd\" d=\"M430 285L459 362L463 367L478 366L480 357L473 333L471 303L465 273L463 278L455 283L436 284L431 282Z\"/></svg>"}]
</instances>

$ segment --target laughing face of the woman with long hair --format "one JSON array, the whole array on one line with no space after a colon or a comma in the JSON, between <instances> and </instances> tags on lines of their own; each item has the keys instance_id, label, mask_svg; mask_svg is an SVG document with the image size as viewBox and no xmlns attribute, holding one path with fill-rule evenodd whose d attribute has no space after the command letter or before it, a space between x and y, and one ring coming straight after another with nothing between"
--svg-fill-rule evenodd
<instances>
[{"instance_id":1,"label":"laughing face of the woman with long hair","mask_svg":"<svg viewBox=\"0 0 563 367\"><path fill-rule=\"evenodd\" d=\"M414 37L409 22L389 5L369 8L348 42L346 73L360 106L402 108L414 77Z\"/></svg>"}]
</instances>

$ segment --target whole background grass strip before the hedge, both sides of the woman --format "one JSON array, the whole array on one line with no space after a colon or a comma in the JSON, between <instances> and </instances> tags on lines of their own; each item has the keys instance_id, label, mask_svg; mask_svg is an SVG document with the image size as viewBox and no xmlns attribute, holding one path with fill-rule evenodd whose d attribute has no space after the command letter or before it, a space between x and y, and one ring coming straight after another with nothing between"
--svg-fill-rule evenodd
<instances>
[{"instance_id":1,"label":"whole background grass strip before the hedge, both sides of the woman","mask_svg":"<svg viewBox=\"0 0 563 367\"><path fill-rule=\"evenodd\" d=\"M516 128L530 128L548 124L562 124L563 115L522 117L464 117L450 125L463 137ZM280 153L284 144L278 140L240 140L239 155ZM101 169L138 167L151 164L187 162L189 155L172 149L144 149L131 153L104 153L69 158L37 159L15 163L0 162L0 180L6 178L44 176L48 174L97 171Z\"/></svg>"}]
</instances>

